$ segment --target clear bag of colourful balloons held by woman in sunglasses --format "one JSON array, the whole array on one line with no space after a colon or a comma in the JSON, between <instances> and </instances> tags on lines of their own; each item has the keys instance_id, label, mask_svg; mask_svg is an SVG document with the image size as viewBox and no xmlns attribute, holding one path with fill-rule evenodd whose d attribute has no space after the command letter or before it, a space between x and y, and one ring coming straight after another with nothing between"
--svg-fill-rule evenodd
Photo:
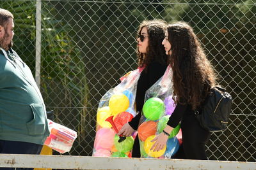
<instances>
[{"instance_id":1,"label":"clear bag of colourful balloons held by woman in sunglasses","mask_svg":"<svg viewBox=\"0 0 256 170\"><path fill-rule=\"evenodd\" d=\"M100 99L93 157L131 157L136 134L125 138L116 133L137 115L134 101L141 71L140 67L125 74L122 82Z\"/></svg>"}]
</instances>

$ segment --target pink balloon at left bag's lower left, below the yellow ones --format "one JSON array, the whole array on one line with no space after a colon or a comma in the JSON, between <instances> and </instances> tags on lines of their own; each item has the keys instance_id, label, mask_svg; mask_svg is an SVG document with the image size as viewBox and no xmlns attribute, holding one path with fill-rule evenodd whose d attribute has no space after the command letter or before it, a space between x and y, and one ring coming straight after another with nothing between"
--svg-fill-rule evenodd
<instances>
[{"instance_id":1,"label":"pink balloon at left bag's lower left, below the yellow ones","mask_svg":"<svg viewBox=\"0 0 256 170\"><path fill-rule=\"evenodd\" d=\"M94 141L95 150L105 149L111 150L114 145L115 132L111 128L101 128L96 132Z\"/></svg>"}]
</instances>

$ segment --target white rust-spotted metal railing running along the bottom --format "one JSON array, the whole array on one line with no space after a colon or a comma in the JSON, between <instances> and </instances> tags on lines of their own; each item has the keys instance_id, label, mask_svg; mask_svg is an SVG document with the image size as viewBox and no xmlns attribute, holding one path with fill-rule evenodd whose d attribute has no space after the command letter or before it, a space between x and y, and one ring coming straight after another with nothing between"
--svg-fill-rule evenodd
<instances>
[{"instance_id":1,"label":"white rust-spotted metal railing running along the bottom","mask_svg":"<svg viewBox=\"0 0 256 170\"><path fill-rule=\"evenodd\" d=\"M100 162L100 164L99 164ZM231 162L218 160L104 158L57 155L0 155L0 167L27 167L40 169L255 169L256 162ZM15 168L16 169L16 168Z\"/></svg>"}]
</instances>

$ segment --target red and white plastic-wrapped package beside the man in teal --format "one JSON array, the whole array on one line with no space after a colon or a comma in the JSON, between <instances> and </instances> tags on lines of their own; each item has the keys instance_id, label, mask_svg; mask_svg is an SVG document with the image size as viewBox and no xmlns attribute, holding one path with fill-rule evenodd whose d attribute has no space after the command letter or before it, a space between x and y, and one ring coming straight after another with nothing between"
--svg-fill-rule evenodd
<instances>
[{"instance_id":1,"label":"red and white plastic-wrapped package beside the man in teal","mask_svg":"<svg viewBox=\"0 0 256 170\"><path fill-rule=\"evenodd\" d=\"M60 153L69 152L77 138L77 132L48 119L50 136L46 138L44 145Z\"/></svg>"}]
</instances>

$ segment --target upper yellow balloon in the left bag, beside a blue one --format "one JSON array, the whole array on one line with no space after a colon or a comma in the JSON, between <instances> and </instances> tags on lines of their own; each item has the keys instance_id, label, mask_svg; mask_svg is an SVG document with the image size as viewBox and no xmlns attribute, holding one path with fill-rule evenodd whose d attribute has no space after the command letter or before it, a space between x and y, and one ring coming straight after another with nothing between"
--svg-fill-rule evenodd
<instances>
[{"instance_id":1,"label":"upper yellow balloon in the left bag, beside a blue one","mask_svg":"<svg viewBox=\"0 0 256 170\"><path fill-rule=\"evenodd\" d=\"M113 94L109 99L109 108L113 115L117 115L129 108L129 99L124 94Z\"/></svg>"}]
</instances>

